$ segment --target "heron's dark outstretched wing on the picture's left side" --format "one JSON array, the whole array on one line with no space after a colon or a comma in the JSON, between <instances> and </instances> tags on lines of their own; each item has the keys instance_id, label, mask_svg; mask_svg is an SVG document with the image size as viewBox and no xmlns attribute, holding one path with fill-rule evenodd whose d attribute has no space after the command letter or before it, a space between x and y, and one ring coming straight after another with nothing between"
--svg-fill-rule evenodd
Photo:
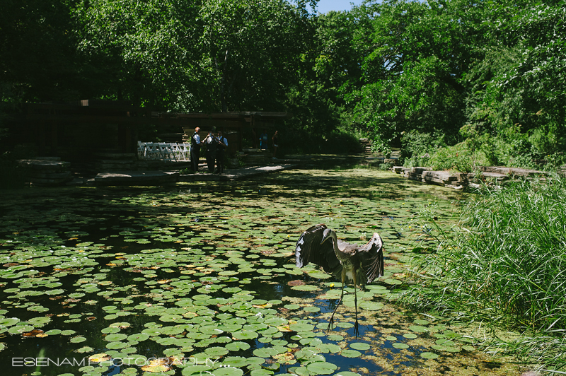
<instances>
[{"instance_id":1,"label":"heron's dark outstretched wing on the picture's left side","mask_svg":"<svg viewBox=\"0 0 566 376\"><path fill-rule=\"evenodd\" d=\"M333 242L328 241L320 244L323 240L323 232L326 225L320 223L308 228L302 233L295 245L296 266L302 268L312 262L322 266L324 271L331 274L339 274L342 271L342 264L336 258Z\"/></svg>"}]
</instances>

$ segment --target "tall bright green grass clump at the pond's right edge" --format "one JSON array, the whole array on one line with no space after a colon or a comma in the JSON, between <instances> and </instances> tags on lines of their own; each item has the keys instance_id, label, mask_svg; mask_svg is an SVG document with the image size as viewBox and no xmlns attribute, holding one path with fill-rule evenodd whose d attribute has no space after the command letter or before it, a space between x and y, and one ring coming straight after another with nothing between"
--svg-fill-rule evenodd
<instances>
[{"instance_id":1,"label":"tall bright green grass clump at the pond's right edge","mask_svg":"<svg viewBox=\"0 0 566 376\"><path fill-rule=\"evenodd\" d=\"M424 213L439 246L416 264L419 281L403 300L523 331L516 351L565 368L565 202L566 182L555 177L485 188L468 201L456 233Z\"/></svg>"}]
</instances>

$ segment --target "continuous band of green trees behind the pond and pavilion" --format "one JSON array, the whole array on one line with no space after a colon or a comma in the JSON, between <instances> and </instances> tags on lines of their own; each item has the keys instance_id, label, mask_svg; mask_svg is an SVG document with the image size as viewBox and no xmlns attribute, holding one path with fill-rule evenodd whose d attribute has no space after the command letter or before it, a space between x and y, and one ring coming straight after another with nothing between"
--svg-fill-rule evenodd
<instances>
[{"instance_id":1,"label":"continuous band of green trees behind the pond and pavilion","mask_svg":"<svg viewBox=\"0 0 566 376\"><path fill-rule=\"evenodd\" d=\"M305 150L345 129L384 152L401 146L409 165L427 163L433 145L458 149L436 158L452 168L467 168L455 153L472 166L562 163L564 1L308 6L316 1L3 1L0 122L26 101L83 98L288 111L292 144Z\"/></svg>"}]
</instances>

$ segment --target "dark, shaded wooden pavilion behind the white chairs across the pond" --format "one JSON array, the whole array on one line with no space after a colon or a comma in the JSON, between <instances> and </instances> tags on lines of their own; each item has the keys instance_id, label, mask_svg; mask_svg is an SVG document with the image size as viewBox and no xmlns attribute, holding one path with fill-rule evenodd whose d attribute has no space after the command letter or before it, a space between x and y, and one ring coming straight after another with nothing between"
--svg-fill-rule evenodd
<instances>
[{"instance_id":1,"label":"dark, shaded wooden pavilion behind the white chairs across the pond","mask_svg":"<svg viewBox=\"0 0 566 376\"><path fill-rule=\"evenodd\" d=\"M202 135L219 129L229 140L229 152L241 151L243 134L250 131L257 147L262 129L290 117L287 112L151 112L127 102L79 100L29 103L11 122L11 142L35 146L39 155L85 160L95 153L137 153L141 127L155 127L168 142L190 140L196 127Z\"/></svg>"}]
</instances>

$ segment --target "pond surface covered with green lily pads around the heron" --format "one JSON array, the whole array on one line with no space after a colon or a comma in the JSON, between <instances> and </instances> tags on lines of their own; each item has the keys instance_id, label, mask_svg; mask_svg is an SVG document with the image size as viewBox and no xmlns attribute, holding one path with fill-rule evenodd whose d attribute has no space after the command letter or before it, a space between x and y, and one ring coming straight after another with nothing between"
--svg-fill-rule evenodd
<instances>
[{"instance_id":1,"label":"pond surface covered with green lily pads around the heron","mask_svg":"<svg viewBox=\"0 0 566 376\"><path fill-rule=\"evenodd\" d=\"M410 259L437 247L416 214L464 197L359 166L238 182L2 192L1 375L519 375L469 328L395 305ZM316 223L385 276L348 285L294 246Z\"/></svg>"}]
</instances>

